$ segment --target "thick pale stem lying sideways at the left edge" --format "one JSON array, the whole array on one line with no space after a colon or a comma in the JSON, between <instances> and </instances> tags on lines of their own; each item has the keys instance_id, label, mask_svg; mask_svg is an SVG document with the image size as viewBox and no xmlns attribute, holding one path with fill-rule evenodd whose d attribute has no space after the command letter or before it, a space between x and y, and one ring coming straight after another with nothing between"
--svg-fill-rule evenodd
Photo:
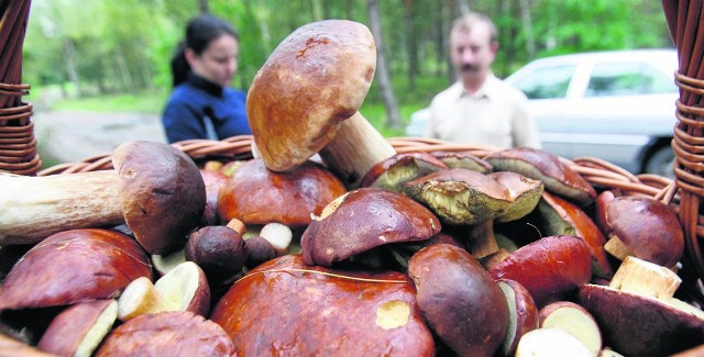
<instances>
[{"instance_id":1,"label":"thick pale stem lying sideways at the left edge","mask_svg":"<svg viewBox=\"0 0 704 357\"><path fill-rule=\"evenodd\" d=\"M114 170L46 177L0 174L0 245L124 223Z\"/></svg>"}]
</instances>

